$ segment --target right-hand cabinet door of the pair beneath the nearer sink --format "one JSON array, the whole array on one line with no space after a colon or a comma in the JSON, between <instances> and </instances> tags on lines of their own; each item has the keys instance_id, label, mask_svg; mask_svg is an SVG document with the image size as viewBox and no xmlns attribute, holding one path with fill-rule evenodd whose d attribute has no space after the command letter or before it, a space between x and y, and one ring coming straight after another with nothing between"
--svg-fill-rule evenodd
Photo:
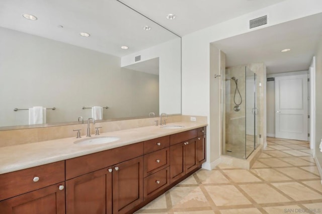
<instances>
[{"instance_id":1,"label":"right-hand cabinet door of the pair beneath the nearer sink","mask_svg":"<svg viewBox=\"0 0 322 214\"><path fill-rule=\"evenodd\" d=\"M128 213L143 201L143 157L113 166L113 213Z\"/></svg>"}]
</instances>

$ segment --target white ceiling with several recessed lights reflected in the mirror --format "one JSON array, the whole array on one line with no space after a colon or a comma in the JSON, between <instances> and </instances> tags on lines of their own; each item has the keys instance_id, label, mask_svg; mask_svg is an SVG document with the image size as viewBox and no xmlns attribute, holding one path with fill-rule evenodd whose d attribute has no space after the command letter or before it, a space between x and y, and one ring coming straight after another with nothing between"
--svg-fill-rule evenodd
<instances>
[{"instance_id":1,"label":"white ceiling with several recessed lights reflected in the mirror","mask_svg":"<svg viewBox=\"0 0 322 214\"><path fill-rule=\"evenodd\" d=\"M144 31L144 26L151 30ZM118 57L178 38L116 0L0 0L0 27ZM82 37L81 32L91 36Z\"/></svg>"}]
</instances>

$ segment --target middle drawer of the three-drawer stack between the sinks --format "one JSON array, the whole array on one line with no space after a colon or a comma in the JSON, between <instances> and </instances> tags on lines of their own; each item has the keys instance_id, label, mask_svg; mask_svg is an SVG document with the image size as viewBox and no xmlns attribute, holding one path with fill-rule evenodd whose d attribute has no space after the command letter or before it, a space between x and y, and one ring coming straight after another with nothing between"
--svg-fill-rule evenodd
<instances>
[{"instance_id":1,"label":"middle drawer of the three-drawer stack between the sinks","mask_svg":"<svg viewBox=\"0 0 322 214\"><path fill-rule=\"evenodd\" d=\"M144 177L170 166L170 149L165 148L156 152L149 153L143 157Z\"/></svg>"}]
</instances>

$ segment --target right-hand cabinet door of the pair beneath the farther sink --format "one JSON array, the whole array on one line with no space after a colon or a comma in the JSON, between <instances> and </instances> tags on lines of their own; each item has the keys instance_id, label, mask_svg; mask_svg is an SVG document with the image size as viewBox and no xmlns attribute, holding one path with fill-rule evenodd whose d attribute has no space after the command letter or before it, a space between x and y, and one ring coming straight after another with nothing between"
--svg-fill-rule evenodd
<instances>
[{"instance_id":1,"label":"right-hand cabinet door of the pair beneath the farther sink","mask_svg":"<svg viewBox=\"0 0 322 214\"><path fill-rule=\"evenodd\" d=\"M185 151L185 173L194 170L197 168L196 161L196 139L191 139L184 143Z\"/></svg>"}]
</instances>

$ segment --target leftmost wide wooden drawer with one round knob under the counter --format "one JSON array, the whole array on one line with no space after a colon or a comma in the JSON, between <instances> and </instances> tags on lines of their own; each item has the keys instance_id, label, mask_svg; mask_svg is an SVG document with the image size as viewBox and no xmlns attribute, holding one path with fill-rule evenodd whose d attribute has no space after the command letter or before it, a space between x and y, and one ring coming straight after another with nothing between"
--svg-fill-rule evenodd
<instances>
[{"instance_id":1,"label":"leftmost wide wooden drawer with one round knob under the counter","mask_svg":"<svg viewBox=\"0 0 322 214\"><path fill-rule=\"evenodd\" d=\"M0 175L0 200L65 180L65 161Z\"/></svg>"}]
</instances>

